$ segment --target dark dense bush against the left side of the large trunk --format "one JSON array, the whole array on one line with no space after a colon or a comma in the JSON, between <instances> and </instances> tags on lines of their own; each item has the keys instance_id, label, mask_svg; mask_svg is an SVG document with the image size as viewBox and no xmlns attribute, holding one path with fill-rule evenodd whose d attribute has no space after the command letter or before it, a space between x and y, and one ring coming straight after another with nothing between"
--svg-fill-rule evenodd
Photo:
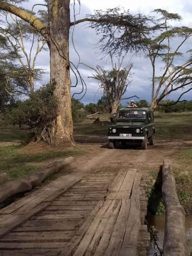
<instances>
[{"instance_id":1,"label":"dark dense bush against the left side of the large trunk","mask_svg":"<svg viewBox=\"0 0 192 256\"><path fill-rule=\"evenodd\" d=\"M31 93L30 99L19 101L7 115L12 124L28 125L33 129L31 138L37 140L45 129L51 129L57 113L58 101L54 97L54 85L47 84Z\"/></svg>"}]
</instances>

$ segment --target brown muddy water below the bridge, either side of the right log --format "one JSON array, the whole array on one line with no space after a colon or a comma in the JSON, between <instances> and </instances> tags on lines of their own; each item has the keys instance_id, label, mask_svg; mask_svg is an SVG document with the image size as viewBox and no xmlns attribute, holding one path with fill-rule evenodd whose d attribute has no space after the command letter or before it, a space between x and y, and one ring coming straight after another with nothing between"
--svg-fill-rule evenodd
<instances>
[{"instance_id":1,"label":"brown muddy water below the bridge, either side of the right log","mask_svg":"<svg viewBox=\"0 0 192 256\"><path fill-rule=\"evenodd\" d=\"M155 226L157 228L158 244L160 248L163 248L165 216L150 216L147 218L147 223L148 227ZM192 215L186 215L186 235L188 237L189 251L192 253ZM155 252L154 248L151 248L149 256L153 256Z\"/></svg>"}]
</instances>

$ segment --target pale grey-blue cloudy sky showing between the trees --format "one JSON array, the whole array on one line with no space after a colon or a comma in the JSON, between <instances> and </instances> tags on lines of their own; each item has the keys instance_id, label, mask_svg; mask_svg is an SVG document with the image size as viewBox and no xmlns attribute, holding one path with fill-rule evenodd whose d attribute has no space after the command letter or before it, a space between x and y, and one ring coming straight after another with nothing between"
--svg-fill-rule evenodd
<instances>
[{"instance_id":1,"label":"pale grey-blue cloudy sky showing between the trees","mask_svg":"<svg viewBox=\"0 0 192 256\"><path fill-rule=\"evenodd\" d=\"M74 3L74 1L71 1ZM31 4L40 3L40 1L29 1ZM82 19L86 14L93 13L94 10L106 10L107 8L113 8L116 6L124 8L124 10L130 11L130 13L143 13L145 15L150 14L154 9L161 8L165 9L168 12L179 13L183 20L180 22L180 25L189 26L192 28L192 1L191 0L81 0L81 12L76 16L76 19ZM37 11L39 6L36 6ZM71 10L73 6L71 4ZM76 12L79 10L79 6L76 1ZM71 18L73 15L71 13ZM70 35L72 35L72 30L70 31ZM110 60L108 57L104 58L104 55L100 52L99 45L97 44L99 40L99 36L96 35L93 29L88 28L86 24L78 24L74 28L73 33L74 45L76 47L77 52L81 57L80 62L85 63L90 67L96 67L96 65L100 65L108 70L111 68ZM190 49L192 41L189 41L186 45L186 49ZM132 83L129 88L127 88L127 92L125 96L129 97L131 95L138 95L140 99L147 99L150 101L150 77L152 73L152 68L150 67L150 63L142 54L138 54L137 56L133 56L132 54L128 54L124 60L124 67L127 65L128 61L132 58ZM77 65L79 62L79 57L74 51L74 46L70 40L70 60ZM37 59L36 65L38 67L44 68L47 72L44 76L44 81L49 80L49 52L42 52ZM161 70L161 65L159 64L159 72ZM92 78L90 78L93 74L93 70L90 68L79 65L79 71L81 72L81 76L87 85L86 95L81 100L85 104L89 102L97 102L98 99L102 96L102 92L99 90L99 84L95 82ZM74 76L71 74L72 84L75 83ZM79 83L76 88L72 88L72 94L81 92L82 86ZM76 99L81 98L83 94L75 95ZM175 93L172 96L169 96L168 99L176 99L178 93ZM185 96L184 99L191 99L192 93L189 93Z\"/></svg>"}]
</instances>

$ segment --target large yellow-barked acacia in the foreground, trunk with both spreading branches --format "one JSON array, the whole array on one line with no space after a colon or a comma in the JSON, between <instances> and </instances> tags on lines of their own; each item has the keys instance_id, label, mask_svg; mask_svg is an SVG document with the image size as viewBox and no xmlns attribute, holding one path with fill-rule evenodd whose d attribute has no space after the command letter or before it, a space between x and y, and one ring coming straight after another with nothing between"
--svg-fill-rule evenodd
<instances>
[{"instance_id":1,"label":"large yellow-barked acacia in the foreground, trunk with both spreading branches","mask_svg":"<svg viewBox=\"0 0 192 256\"><path fill-rule=\"evenodd\" d=\"M80 0L77 0L80 3ZM109 28L105 36L110 36L114 31L127 33L132 49L137 49L140 38L150 29L147 27L147 17L133 16L126 13L108 12L105 15L95 15L81 20L70 22L70 0L47 0L48 26L33 13L10 4L8 0L0 1L0 10L15 14L20 19L28 22L33 28L44 36L50 50L51 83L55 85L54 95L58 99L58 111L52 121L49 134L52 142L56 144L73 143L72 138L72 111L70 97L70 61L69 61L69 29L80 22L99 23L100 28ZM22 2L22 1L16 1ZM40 4L41 5L41 4ZM115 18L115 19L113 19ZM110 26L108 24L111 24ZM115 39L115 37L114 37Z\"/></svg>"}]
</instances>

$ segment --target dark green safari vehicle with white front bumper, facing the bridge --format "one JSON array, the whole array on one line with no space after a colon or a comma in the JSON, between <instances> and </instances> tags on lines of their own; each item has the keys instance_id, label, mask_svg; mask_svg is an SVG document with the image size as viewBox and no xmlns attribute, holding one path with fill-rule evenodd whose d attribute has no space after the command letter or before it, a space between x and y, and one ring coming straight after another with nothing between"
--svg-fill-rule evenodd
<instances>
[{"instance_id":1,"label":"dark green safari vehicle with white front bumper, facing the bridge","mask_svg":"<svg viewBox=\"0 0 192 256\"><path fill-rule=\"evenodd\" d=\"M116 142L126 145L136 142L142 149L147 143L154 145L154 113L150 108L123 108L115 118L111 118L108 127L109 147L115 148Z\"/></svg>"}]
</instances>

